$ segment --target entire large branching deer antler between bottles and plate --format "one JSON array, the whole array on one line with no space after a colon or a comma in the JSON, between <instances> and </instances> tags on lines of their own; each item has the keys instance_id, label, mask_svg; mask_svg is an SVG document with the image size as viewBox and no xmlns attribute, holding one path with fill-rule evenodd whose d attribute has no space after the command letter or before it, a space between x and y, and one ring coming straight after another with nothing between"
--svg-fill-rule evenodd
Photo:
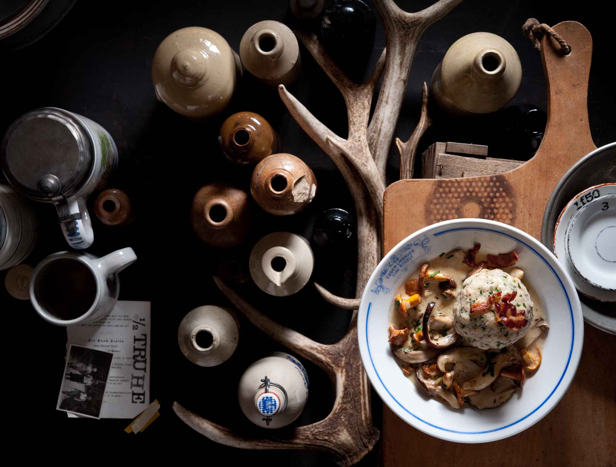
<instances>
[{"instance_id":1,"label":"entire large branching deer antler between bottles and plate","mask_svg":"<svg viewBox=\"0 0 616 467\"><path fill-rule=\"evenodd\" d=\"M383 193L387 153L400 114L404 89L411 61L419 37L440 17L447 14L462 0L440 0L417 13L407 13L395 6L392 0L375 0L383 17L387 35L387 52L383 51L370 79L363 85L349 80L331 61L314 35L295 33L310 54L341 91L347 106L349 134L341 138L312 115L285 86L278 86L278 93L299 126L318 146L330 156L349 186L357 214L357 284L355 296L362 294L381 257L379 227L383 219ZM381 92L375 114L370 120L370 105L376 83L383 72ZM413 146L419 141L429 118L425 107L427 88L424 84L422 117L418 128L402 151L414 154ZM410 159L408 156L407 159ZM378 216L377 216L378 214ZM357 309L354 309L349 330L336 344L324 345L302 334L285 328L251 307L218 278L217 286L227 298L270 337L319 365L328 373L336 389L336 399L330 415L318 423L295 428L284 439L253 439L245 434L212 423L185 409L177 402L173 409L188 426L211 440L246 449L299 449L326 450L334 454L336 462L351 466L361 460L375 446L379 432L372 424L370 386L363 371L357 345ZM317 290L330 303L343 308L356 308L358 299L343 299L326 291Z\"/></svg>"}]
</instances>

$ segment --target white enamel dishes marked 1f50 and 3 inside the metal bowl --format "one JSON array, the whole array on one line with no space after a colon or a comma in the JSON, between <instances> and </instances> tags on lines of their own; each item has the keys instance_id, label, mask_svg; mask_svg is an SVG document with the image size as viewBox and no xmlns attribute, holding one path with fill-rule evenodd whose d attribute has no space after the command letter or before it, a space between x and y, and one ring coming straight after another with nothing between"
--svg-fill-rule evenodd
<instances>
[{"instance_id":1,"label":"white enamel dishes marked 1f50 and 3 inside the metal bowl","mask_svg":"<svg viewBox=\"0 0 616 467\"><path fill-rule=\"evenodd\" d=\"M554 255L578 292L616 301L616 183L591 186L565 205L554 228Z\"/></svg>"}]
</instances>

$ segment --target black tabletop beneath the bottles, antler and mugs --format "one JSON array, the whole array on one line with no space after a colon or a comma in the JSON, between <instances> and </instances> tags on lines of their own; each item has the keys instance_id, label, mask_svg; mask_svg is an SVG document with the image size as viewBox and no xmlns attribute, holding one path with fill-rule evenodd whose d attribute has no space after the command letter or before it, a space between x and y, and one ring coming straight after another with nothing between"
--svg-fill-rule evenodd
<instances>
[{"instance_id":1,"label":"black tabletop beneath the bottles, antler and mugs","mask_svg":"<svg viewBox=\"0 0 616 467\"><path fill-rule=\"evenodd\" d=\"M428 6L426 0L402 1L406 10ZM522 61L522 85L509 107L522 110L536 105L546 109L546 88L540 55L521 34L528 17L554 24L563 20L582 22L593 34L594 51L589 88L590 126L597 146L616 139L614 89L609 78L613 52L607 42L607 15L600 2L577 3L562 9L555 1L466 1L441 19L419 42L410 74L396 136L407 139L421 103L421 83L431 78L448 47L475 31L503 36ZM0 56L0 89L4 93L0 133L20 114L37 107L54 106L77 112L105 126L120 152L118 172L110 187L131 189L139 209L139 221L113 228L96 222L95 242L89 249L103 255L131 246L139 260L121 273L122 300L152 302L151 394L161 403L161 417L143 434L128 435L126 420L67 419L55 410L64 365L66 331L41 320L29 302L0 290L0 310L6 325L7 368L17 368L4 379L6 414L13 436L28 440L20 457L47 456L71 461L79 457L101 461L133 461L153 453L201 458L208 462L224 456L227 461L261 464L333 465L330 455L317 452L249 452L214 444L184 425L171 410L177 400L217 423L246 426L236 399L237 383L246 366L274 350L284 350L246 320L237 352L224 365L201 368L188 362L177 347L177 326L192 308L205 304L228 305L211 279L223 255L246 258L254 242L272 231L291 231L311 240L315 252L313 278L340 295L354 291L355 245L336 250L320 249L312 241L312 223L323 209L341 207L354 212L351 196L333 163L290 117L275 91L262 89L245 74L232 105L208 122L189 122L156 101L150 67L160 41L187 26L209 27L221 33L236 51L241 36L254 22L274 19L301 28L288 11L286 0L254 2L175 1L76 2L54 30L27 48ZM304 28L315 30L314 23ZM384 32L377 31L370 72L381 49ZM291 88L298 99L333 131L346 133L342 97L305 49L302 75ZM352 53L352 51L349 51ZM222 156L217 133L225 117L240 110L263 115L282 138L282 152L305 160L315 172L318 192L309 209L293 217L267 215L253 205L259 218L244 247L214 250L198 241L188 220L193 194L211 181L237 181L248 186L250 172L233 166ZM487 144L489 155L520 159L524 142L503 129L505 114L475 120L452 120L432 109L434 125L421 140L419 151L435 141ZM529 153L527 159L531 156ZM397 180L399 160L395 151L387 166L387 181ZM540 181L537 181L540 183ZM91 200L92 202L92 200ZM26 263L66 249L51 205L41 207L41 241ZM92 212L92 211L91 211ZM538 219L538 222L541 220ZM4 271L0 274L4 282ZM249 301L306 336L324 343L336 342L349 324L350 313L326 304L312 286L296 295L275 298L253 284L241 293ZM18 363L15 367L13 360ZM9 363L11 362L11 363ZM333 394L325 373L306 363L310 397L296 424L318 421L331 410ZM360 365L360 362L357 362ZM15 374L16 373L16 374ZM8 385L7 385L8 382ZM221 394L225 403L212 400ZM381 424L382 404L373 396L374 418ZM262 429L254 428L258 436ZM73 457L73 454L78 454ZM129 458L128 456L132 456ZM83 459L81 459L83 460ZM379 462L378 447L361 465ZM411 460L409 460L411 462Z\"/></svg>"}]
</instances>

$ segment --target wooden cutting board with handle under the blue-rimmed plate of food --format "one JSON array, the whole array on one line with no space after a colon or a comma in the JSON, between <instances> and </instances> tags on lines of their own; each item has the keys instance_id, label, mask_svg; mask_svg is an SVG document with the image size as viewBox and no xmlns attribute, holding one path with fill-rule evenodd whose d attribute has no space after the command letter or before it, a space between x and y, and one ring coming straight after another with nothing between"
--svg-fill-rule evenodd
<instances>
[{"instance_id":1,"label":"wooden cutting board with handle under the blue-rimmed plate of food","mask_svg":"<svg viewBox=\"0 0 616 467\"><path fill-rule=\"evenodd\" d=\"M540 240L541 220L554 187L573 163L595 149L588 126L592 39L577 22L554 27L572 52L562 56L548 35L541 59L548 84L548 124L533 159L503 175L447 180L400 180L385 191L384 251L442 220L492 219ZM408 207L415 206L412 215ZM443 441L411 427L384 407L386 467L417 463L482 466L613 466L616 463L616 339L585 324L582 359L569 391L537 424L485 444Z\"/></svg>"}]
</instances>

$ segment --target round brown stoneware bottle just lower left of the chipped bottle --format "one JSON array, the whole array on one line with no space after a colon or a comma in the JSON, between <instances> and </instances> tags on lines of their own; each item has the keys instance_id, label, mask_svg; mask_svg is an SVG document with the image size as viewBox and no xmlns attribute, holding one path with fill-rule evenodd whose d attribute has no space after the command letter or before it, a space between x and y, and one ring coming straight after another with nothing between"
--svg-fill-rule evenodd
<instances>
[{"instance_id":1,"label":"round brown stoneware bottle just lower left of the chipped bottle","mask_svg":"<svg viewBox=\"0 0 616 467\"><path fill-rule=\"evenodd\" d=\"M211 183L193 198L190 220L207 244L228 248L244 241L250 228L248 193L224 183Z\"/></svg>"}]
</instances>

